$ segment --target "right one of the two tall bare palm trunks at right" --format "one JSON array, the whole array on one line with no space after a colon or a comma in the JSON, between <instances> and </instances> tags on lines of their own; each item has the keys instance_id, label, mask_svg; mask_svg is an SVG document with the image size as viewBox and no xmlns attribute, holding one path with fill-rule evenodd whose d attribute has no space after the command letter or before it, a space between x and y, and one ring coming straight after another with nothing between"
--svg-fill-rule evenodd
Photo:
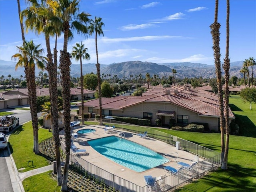
<instances>
[{"instance_id":1,"label":"right one of the two tall bare palm trunks at right","mask_svg":"<svg viewBox=\"0 0 256 192\"><path fill-rule=\"evenodd\" d=\"M226 132L226 144L225 144L225 151L224 151L224 157L222 161L221 168L222 169L228 169L228 148L229 148L229 69L230 69L230 59L229 56L229 13L230 13L230 4L229 0L227 0L227 17L226 17L226 56L224 58L224 65L223 69L225 72L225 98L224 98L224 115L225 115L225 132Z\"/></svg>"}]
</instances>

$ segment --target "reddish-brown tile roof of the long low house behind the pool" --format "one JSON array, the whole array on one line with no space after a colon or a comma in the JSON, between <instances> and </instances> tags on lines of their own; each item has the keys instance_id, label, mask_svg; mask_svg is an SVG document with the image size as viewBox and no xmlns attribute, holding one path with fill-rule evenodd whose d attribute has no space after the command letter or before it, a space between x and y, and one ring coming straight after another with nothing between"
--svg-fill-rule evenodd
<instances>
[{"instance_id":1,"label":"reddish-brown tile roof of the long low house behind the pool","mask_svg":"<svg viewBox=\"0 0 256 192\"><path fill-rule=\"evenodd\" d=\"M117 96L114 98L102 98L102 108L122 110L142 102L168 102L182 108L196 112L201 116L220 116L219 103L216 94L204 90L179 90L174 94L163 94L166 89L150 90L143 96ZM154 93L154 94L152 94ZM163 94L163 95L162 95ZM81 104L78 104L78 106ZM86 106L99 108L98 99L85 103ZM229 116L234 118L230 110Z\"/></svg>"}]
</instances>

